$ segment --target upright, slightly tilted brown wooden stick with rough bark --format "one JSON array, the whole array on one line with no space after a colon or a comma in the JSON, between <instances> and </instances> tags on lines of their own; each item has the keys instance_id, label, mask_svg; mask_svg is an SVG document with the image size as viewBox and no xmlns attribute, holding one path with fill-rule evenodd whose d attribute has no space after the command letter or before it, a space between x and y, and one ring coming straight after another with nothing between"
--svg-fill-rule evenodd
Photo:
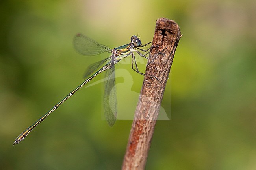
<instances>
[{"instance_id":1,"label":"upright, slightly tilted brown wooden stick with rough bark","mask_svg":"<svg viewBox=\"0 0 256 170\"><path fill-rule=\"evenodd\" d=\"M180 37L180 28L176 22L167 18L156 21L153 48L148 59L122 170L145 169L156 119Z\"/></svg>"}]
</instances>

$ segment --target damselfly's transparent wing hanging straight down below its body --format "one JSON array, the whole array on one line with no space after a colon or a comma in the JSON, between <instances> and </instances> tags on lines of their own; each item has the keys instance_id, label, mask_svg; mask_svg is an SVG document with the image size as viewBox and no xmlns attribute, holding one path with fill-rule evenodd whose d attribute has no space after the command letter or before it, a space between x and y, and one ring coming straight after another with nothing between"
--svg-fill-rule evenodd
<instances>
[{"instance_id":1,"label":"damselfly's transparent wing hanging straight down below its body","mask_svg":"<svg viewBox=\"0 0 256 170\"><path fill-rule=\"evenodd\" d=\"M115 67L112 62L110 69L106 70L106 77L108 80L105 82L104 93L104 112L109 126L115 124L117 117L117 99L116 99L116 86L115 86Z\"/></svg>"}]
</instances>

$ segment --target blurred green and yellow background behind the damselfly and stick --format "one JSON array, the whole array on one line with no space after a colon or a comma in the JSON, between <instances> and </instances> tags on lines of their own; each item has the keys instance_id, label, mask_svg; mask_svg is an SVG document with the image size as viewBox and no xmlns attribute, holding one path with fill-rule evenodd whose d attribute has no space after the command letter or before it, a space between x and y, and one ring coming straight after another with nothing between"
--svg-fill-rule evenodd
<instances>
[{"instance_id":1,"label":"blurred green and yellow background behind the damselfly and stick","mask_svg":"<svg viewBox=\"0 0 256 170\"><path fill-rule=\"evenodd\" d=\"M102 83L12 143L108 56L76 53L77 32L110 48L137 34L144 44L165 17L184 36L162 103L171 121L157 122L146 169L255 170L255 9L254 0L1 1L0 169L121 169L132 121L102 120ZM133 114L143 77L130 59L116 69L119 114Z\"/></svg>"}]
</instances>

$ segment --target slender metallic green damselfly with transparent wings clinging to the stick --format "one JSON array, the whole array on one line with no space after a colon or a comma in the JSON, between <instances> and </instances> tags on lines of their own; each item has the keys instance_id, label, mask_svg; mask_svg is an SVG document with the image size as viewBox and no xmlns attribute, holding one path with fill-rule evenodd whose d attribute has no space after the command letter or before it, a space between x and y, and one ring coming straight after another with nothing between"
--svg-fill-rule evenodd
<instances>
[{"instance_id":1,"label":"slender metallic green damselfly with transparent wings clinging to the stick","mask_svg":"<svg viewBox=\"0 0 256 170\"><path fill-rule=\"evenodd\" d=\"M104 92L104 113L106 120L109 124L109 126L113 126L116 117L117 117L117 101L116 101L116 90L115 90L115 67L114 65L117 64L120 60L123 58L126 58L129 55L132 55L132 69L136 71L137 73L140 73L142 75L145 75L141 73L137 67L137 63L135 60L134 52L138 53L140 56L147 58L145 55L150 52L150 48L148 49L141 49L140 47L147 46L152 42L148 42L145 45L141 44L141 40L137 36L131 37L131 42L129 44L125 44L123 46L119 46L114 49L108 48L108 46L98 44L98 42L92 40L91 38L86 37L83 34L78 33L74 37L74 48L76 51L82 55L87 56L94 56L99 55L101 53L107 52L111 53L111 56L108 58L105 58L102 61L96 62L94 64L91 64L86 73L86 77L91 75L89 78L87 78L82 84L80 84L77 88L75 88L73 91L71 91L64 99L62 99L60 102L58 102L53 108L51 108L45 115L40 117L32 126L28 127L24 132L22 132L16 139L13 145L20 143L26 136L28 136L28 133L30 133L35 126L37 126L39 123L41 123L45 118L50 115L54 110L56 110L63 102L65 102L69 97L74 95L76 91L78 91L80 88L82 88L85 84L87 84L89 81L91 81L94 77L96 77L98 74L100 74L103 71L106 71L106 77L107 81L105 82L105 92ZM140 51L138 51L140 50ZM143 52L144 54L143 54ZM104 63L106 63L102 68ZM134 69L135 64L135 69ZM100 68L100 69L98 69ZM96 71L98 69L98 71ZM95 72L96 71L96 72Z\"/></svg>"}]
</instances>

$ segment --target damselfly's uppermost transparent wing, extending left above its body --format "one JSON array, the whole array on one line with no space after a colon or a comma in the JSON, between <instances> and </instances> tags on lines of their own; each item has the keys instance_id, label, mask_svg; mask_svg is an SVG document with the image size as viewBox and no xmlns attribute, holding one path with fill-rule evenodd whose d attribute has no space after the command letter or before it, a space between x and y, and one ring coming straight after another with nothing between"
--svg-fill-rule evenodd
<instances>
[{"instance_id":1,"label":"damselfly's uppermost transparent wing, extending left above its body","mask_svg":"<svg viewBox=\"0 0 256 170\"><path fill-rule=\"evenodd\" d=\"M98 44L95 40L86 37L81 33L77 33L74 37L74 48L82 55L98 55L104 52L112 53L108 46Z\"/></svg>"}]
</instances>

